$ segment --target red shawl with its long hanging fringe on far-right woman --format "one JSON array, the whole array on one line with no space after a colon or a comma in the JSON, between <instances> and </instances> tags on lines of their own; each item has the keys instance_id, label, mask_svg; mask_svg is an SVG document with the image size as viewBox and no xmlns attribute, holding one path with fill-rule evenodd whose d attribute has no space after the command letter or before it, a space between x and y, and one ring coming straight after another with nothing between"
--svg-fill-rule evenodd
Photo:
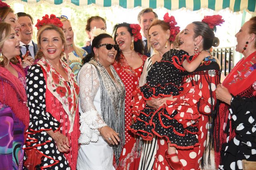
<instances>
[{"instance_id":1,"label":"red shawl with its long hanging fringe on far-right woman","mask_svg":"<svg viewBox=\"0 0 256 170\"><path fill-rule=\"evenodd\" d=\"M256 63L256 51L251 53L247 58L242 58L228 76L223 81L223 85L228 88L228 91L237 95L248 89L256 81L256 71L253 65ZM218 119L216 120L216 127L220 126L220 133L216 133L216 138L220 141L219 146L215 145L215 163L216 166L220 164L220 151L221 146L227 142L227 136L230 136L229 140L235 137L235 131L231 131L232 124L229 124L229 134L224 133L227 122L229 121L229 106L226 103L220 103Z\"/></svg>"}]
</instances>

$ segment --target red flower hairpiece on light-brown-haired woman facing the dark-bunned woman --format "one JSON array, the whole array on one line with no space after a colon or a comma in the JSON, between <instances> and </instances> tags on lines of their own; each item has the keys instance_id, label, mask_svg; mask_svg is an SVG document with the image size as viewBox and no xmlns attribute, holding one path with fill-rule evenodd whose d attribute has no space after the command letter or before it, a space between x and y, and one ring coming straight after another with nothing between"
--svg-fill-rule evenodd
<instances>
[{"instance_id":1,"label":"red flower hairpiece on light-brown-haired woman facing the dark-bunned woman","mask_svg":"<svg viewBox=\"0 0 256 170\"><path fill-rule=\"evenodd\" d=\"M170 38L169 41L174 41L176 35L180 32L180 27L175 26L177 22L175 21L174 16L169 16L168 12L164 14L164 22L169 23L170 25Z\"/></svg>"}]
</instances>

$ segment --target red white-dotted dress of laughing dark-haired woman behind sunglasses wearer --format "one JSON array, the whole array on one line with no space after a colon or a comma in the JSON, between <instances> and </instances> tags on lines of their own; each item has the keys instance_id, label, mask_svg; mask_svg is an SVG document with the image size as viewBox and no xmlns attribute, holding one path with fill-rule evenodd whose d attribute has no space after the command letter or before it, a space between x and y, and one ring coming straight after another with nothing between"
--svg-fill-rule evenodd
<instances>
[{"instance_id":1,"label":"red white-dotted dress of laughing dark-haired woman behind sunglasses wearer","mask_svg":"<svg viewBox=\"0 0 256 170\"><path fill-rule=\"evenodd\" d=\"M133 69L130 67L128 62L126 61L124 55L121 53L120 61L114 62L113 66L123 81L123 84L126 89L126 97L125 97L125 127L130 126L132 124L132 112L130 108L130 102L132 100L132 92L136 90L139 85L139 78L142 74L143 65L147 56L139 54L143 60L142 65ZM140 163L140 153L138 153L135 149L136 138L134 134L128 131L125 128L125 138L126 144L124 145L123 151L120 156L120 163L117 169L119 170L135 170L139 167ZM115 164L115 163L114 163ZM116 167L116 165L115 165Z\"/></svg>"}]
</instances>

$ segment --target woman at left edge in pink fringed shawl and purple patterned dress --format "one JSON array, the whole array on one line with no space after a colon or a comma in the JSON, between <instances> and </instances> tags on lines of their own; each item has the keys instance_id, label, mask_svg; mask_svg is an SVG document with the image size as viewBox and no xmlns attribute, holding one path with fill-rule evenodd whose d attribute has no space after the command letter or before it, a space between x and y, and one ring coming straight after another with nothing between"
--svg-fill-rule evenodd
<instances>
[{"instance_id":1,"label":"woman at left edge in pink fringed shawl and purple patterned dress","mask_svg":"<svg viewBox=\"0 0 256 170\"><path fill-rule=\"evenodd\" d=\"M26 78L15 56L19 39L9 23L0 22L0 169L22 169L24 132L29 113Z\"/></svg>"}]
</instances>

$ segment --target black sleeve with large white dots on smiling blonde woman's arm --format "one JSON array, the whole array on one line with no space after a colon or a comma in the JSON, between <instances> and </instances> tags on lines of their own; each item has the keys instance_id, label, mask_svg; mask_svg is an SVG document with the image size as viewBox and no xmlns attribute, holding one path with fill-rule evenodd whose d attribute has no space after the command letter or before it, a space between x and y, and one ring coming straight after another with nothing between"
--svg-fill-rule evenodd
<instances>
[{"instance_id":1,"label":"black sleeve with large white dots on smiling blonde woman's arm","mask_svg":"<svg viewBox=\"0 0 256 170\"><path fill-rule=\"evenodd\" d=\"M46 83L43 71L39 65L33 65L28 69L26 76L28 109L30 113L29 129L35 131L59 129L60 123L46 112L45 92Z\"/></svg>"}]
</instances>

